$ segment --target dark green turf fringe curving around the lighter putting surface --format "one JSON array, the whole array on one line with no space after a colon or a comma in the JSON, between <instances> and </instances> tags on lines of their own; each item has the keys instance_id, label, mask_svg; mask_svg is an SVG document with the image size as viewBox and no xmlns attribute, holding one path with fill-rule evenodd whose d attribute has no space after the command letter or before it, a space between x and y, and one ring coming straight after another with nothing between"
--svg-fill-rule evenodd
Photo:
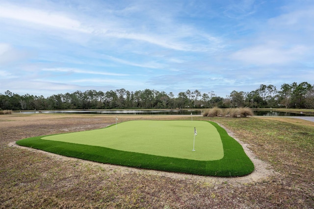
<instances>
[{"instance_id":1,"label":"dark green turf fringe curving around the lighter putting surface","mask_svg":"<svg viewBox=\"0 0 314 209\"><path fill-rule=\"evenodd\" d=\"M17 144L68 157L154 170L209 176L243 176L253 172L254 164L244 153L242 146L219 125L210 123L216 127L223 143L224 157L221 160L186 160L100 146L43 140L41 139L43 136L22 139L17 141Z\"/></svg>"}]
</instances>

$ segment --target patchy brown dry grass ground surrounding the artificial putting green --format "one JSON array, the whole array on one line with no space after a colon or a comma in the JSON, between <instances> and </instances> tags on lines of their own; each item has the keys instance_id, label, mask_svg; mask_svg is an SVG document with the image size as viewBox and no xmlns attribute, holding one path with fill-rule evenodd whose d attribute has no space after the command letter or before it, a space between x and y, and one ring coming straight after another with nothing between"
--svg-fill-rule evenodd
<instances>
[{"instance_id":1,"label":"patchy brown dry grass ground surrounding the artificial putting green","mask_svg":"<svg viewBox=\"0 0 314 209\"><path fill-rule=\"evenodd\" d=\"M118 118L126 121L183 117ZM255 117L213 120L248 143L255 155L270 163L278 175L248 183L237 183L234 178L197 178L184 174L182 178L174 178L159 175L161 172L55 157L8 144L27 137L105 127L115 122L115 116L3 115L0 116L0 208L314 208L313 143L300 141L300 136L304 140L314 136L310 126L313 122Z\"/></svg>"}]
</instances>

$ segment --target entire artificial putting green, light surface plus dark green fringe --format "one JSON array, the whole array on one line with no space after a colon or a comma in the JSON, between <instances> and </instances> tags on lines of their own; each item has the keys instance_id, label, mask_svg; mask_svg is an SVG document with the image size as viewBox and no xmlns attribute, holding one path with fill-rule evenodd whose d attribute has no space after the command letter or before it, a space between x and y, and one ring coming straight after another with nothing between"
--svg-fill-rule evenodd
<instances>
[{"instance_id":1,"label":"entire artificial putting green, light surface plus dark green fringe","mask_svg":"<svg viewBox=\"0 0 314 209\"><path fill-rule=\"evenodd\" d=\"M172 172L243 176L254 170L241 145L208 121L128 121L92 131L22 139L17 144L100 163Z\"/></svg>"}]
</instances>

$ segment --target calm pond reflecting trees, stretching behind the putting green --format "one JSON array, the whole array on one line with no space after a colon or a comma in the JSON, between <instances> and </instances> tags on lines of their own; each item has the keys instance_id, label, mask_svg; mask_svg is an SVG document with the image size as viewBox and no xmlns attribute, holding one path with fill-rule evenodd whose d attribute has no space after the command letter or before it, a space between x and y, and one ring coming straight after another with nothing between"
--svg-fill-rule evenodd
<instances>
[{"instance_id":1,"label":"calm pond reflecting trees, stretching behind the putting green","mask_svg":"<svg viewBox=\"0 0 314 209\"><path fill-rule=\"evenodd\" d=\"M22 112L34 113L34 112ZM36 111L38 113L38 111ZM105 115L202 115L202 110L59 110L42 111L41 113L68 113L68 114L105 114ZM253 111L255 116L311 116L307 114L297 114L279 111Z\"/></svg>"}]
</instances>

